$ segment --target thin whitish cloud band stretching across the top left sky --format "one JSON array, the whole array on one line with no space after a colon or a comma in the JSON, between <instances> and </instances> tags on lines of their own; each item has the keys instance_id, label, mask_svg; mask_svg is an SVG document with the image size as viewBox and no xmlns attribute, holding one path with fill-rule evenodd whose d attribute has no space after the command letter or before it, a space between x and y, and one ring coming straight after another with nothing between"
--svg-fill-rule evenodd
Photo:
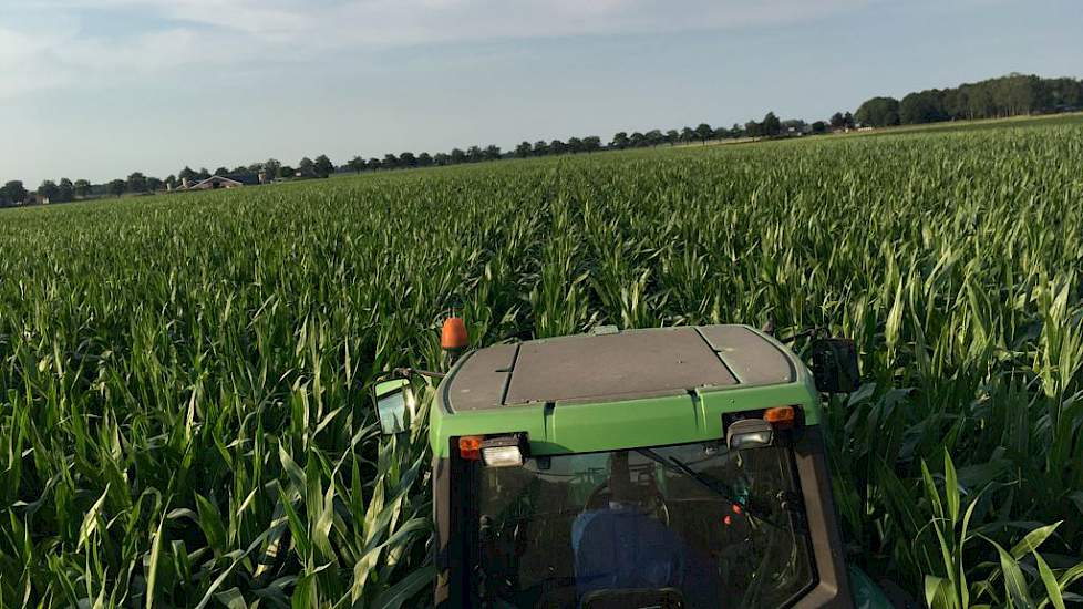
<instances>
[{"instance_id":1,"label":"thin whitish cloud band stretching across the top left sky","mask_svg":"<svg viewBox=\"0 0 1083 609\"><path fill-rule=\"evenodd\" d=\"M0 96L320 53L551 37L681 32L838 13L868 0L7 0ZM123 33L100 33L90 14ZM63 23L58 28L56 23ZM153 28L149 27L153 24Z\"/></svg>"}]
</instances>

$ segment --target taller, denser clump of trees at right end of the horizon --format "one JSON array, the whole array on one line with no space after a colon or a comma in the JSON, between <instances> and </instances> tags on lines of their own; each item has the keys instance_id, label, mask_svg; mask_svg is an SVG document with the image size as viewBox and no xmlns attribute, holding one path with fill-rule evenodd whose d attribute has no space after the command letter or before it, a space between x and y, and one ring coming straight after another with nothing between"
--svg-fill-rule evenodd
<instances>
[{"instance_id":1,"label":"taller, denser clump of trees at right end of the horizon","mask_svg":"<svg viewBox=\"0 0 1083 609\"><path fill-rule=\"evenodd\" d=\"M901 100L873 97L857 109L855 118L863 125L886 127L1080 109L1083 109L1083 82L1076 79L1009 74L953 89L918 91Z\"/></svg>"}]
</instances>

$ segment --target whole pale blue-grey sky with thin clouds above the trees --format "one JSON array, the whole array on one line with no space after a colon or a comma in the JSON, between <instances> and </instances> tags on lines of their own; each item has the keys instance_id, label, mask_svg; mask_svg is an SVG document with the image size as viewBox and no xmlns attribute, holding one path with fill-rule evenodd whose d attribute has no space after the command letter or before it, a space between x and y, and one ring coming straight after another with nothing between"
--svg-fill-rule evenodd
<instances>
[{"instance_id":1,"label":"whole pale blue-grey sky with thin clouds above the trees","mask_svg":"<svg viewBox=\"0 0 1083 609\"><path fill-rule=\"evenodd\" d=\"M824 118L1083 76L1080 0L0 0L0 183Z\"/></svg>"}]
</instances>

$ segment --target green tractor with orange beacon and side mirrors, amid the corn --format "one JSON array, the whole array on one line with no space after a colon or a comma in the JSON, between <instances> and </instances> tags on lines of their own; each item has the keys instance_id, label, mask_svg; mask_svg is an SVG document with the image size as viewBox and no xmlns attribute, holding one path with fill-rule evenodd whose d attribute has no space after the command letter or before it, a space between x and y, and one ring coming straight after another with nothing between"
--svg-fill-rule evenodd
<instances>
[{"instance_id":1,"label":"green tractor with orange beacon and side mirrors, amid the corn","mask_svg":"<svg viewBox=\"0 0 1083 609\"><path fill-rule=\"evenodd\" d=\"M446 374L400 371L442 376L436 607L891 607L845 562L821 431L852 341L814 341L809 371L745 326L443 339ZM408 379L375 400L409 429Z\"/></svg>"}]
</instances>

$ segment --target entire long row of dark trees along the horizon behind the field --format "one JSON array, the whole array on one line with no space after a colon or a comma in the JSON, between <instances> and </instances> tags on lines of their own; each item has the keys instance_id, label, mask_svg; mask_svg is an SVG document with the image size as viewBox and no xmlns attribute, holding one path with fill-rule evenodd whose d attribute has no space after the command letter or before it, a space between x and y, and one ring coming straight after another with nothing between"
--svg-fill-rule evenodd
<instances>
[{"instance_id":1,"label":"entire long row of dark trees along the horizon behind the field","mask_svg":"<svg viewBox=\"0 0 1083 609\"><path fill-rule=\"evenodd\" d=\"M644 132L621 131L613 134L608 143L596 135L569 137L564 140L522 142L514 149L502 151L499 146L470 146L465 151L453 148L448 153L427 152L385 154L382 158L354 156L341 166L321 154L314 159L301 158L297 166L285 165L275 158L241 165L229 169L218 167L214 172L185 167L176 175L164 179L145 176L134 172L126 179L113 179L105 184L91 184L85 179L47 179L33 193L20 180L11 180L0 187L0 206L21 204L33 196L41 202L64 203L79 198L99 196L121 196L125 194L146 194L174 190L214 175L224 177L251 178L262 174L269 179L302 179L328 177L336 172L374 172L388 169L410 169L481 163L505 158L530 158L559 154L594 153L607 149L628 149L661 145L705 144L709 141L763 138L793 135L816 135L833 131L845 131L858 126L885 127L935 123L939 121L974 120L1015 116L1020 114L1069 112L1083 109L1083 82L1071 78L1042 79L1035 75L1009 74L976 83L966 83L955 89L930 89L919 91L896 100L877 96L864 102L855 113L836 112L826 121L812 124L800 118L781 120L769 112L760 121L749 121L743 125L712 127L700 123L695 127L680 130L650 130Z\"/></svg>"}]
</instances>

